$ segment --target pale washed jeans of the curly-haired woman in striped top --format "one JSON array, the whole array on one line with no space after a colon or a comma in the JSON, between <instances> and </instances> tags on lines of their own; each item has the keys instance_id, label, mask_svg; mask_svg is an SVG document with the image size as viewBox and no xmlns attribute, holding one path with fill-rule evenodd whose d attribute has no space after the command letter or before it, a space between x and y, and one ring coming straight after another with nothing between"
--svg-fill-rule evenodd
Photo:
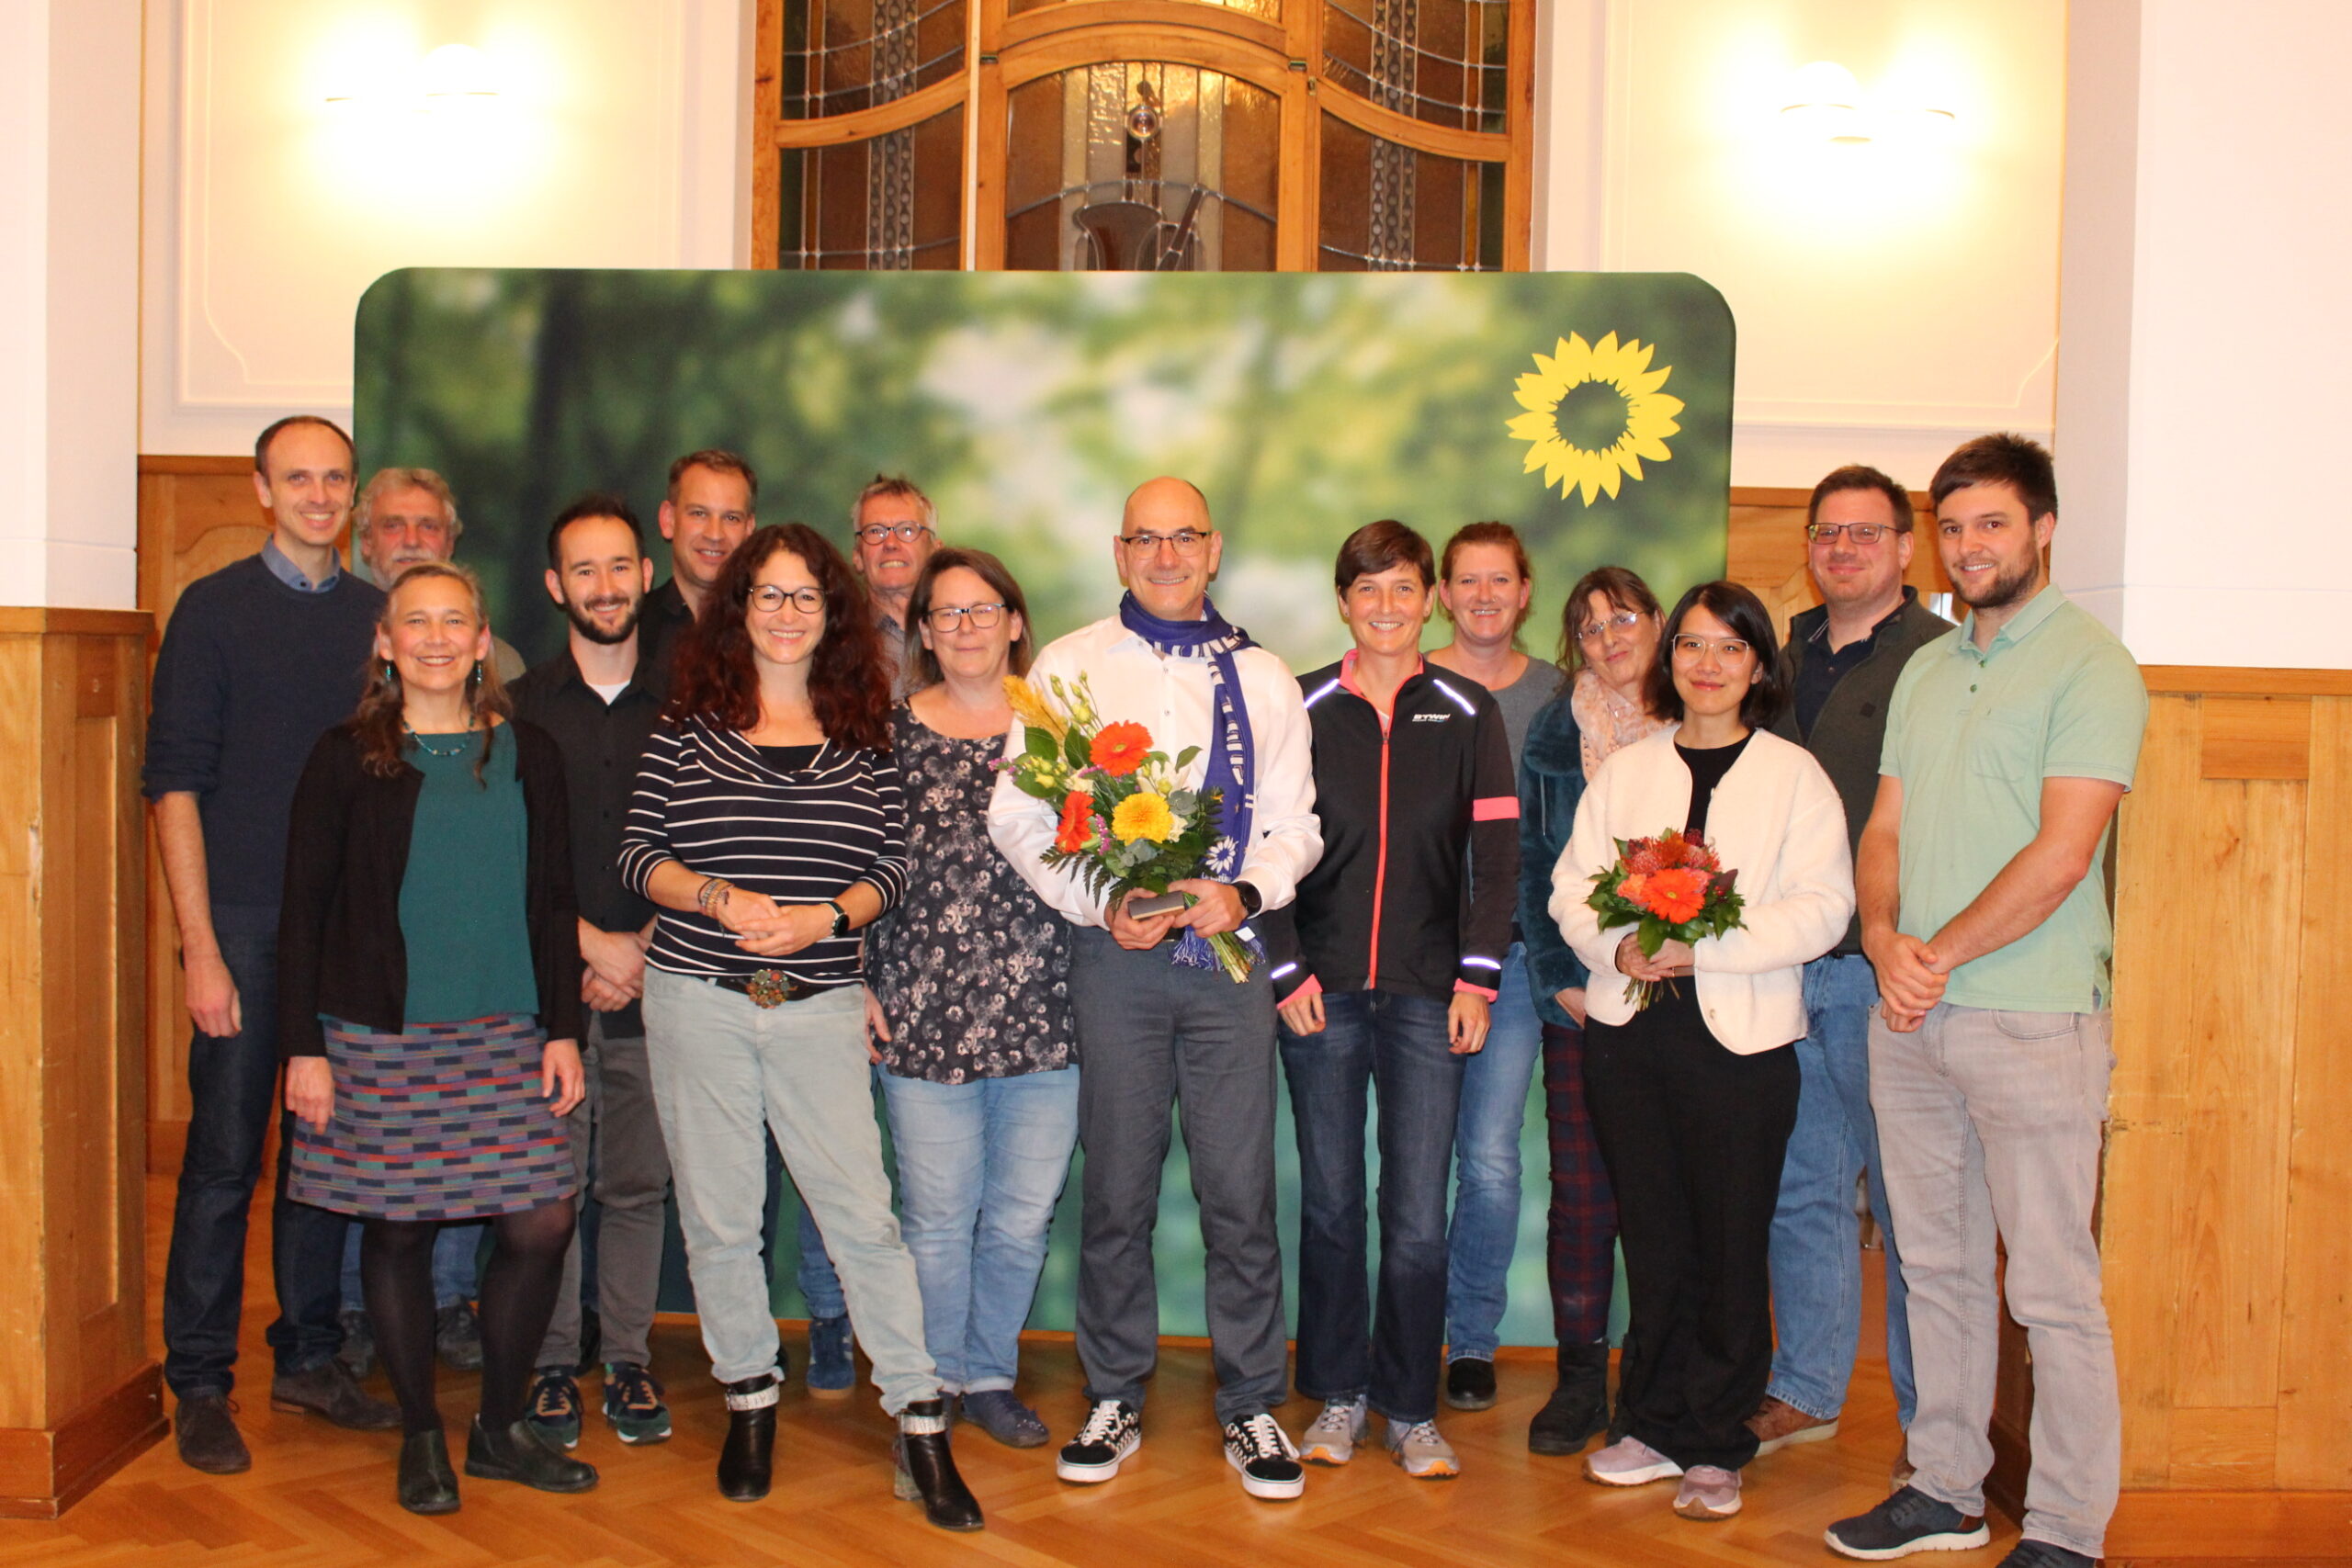
<instances>
[{"instance_id":1,"label":"pale washed jeans of the curly-haired woman in striped top","mask_svg":"<svg viewBox=\"0 0 2352 1568\"><path fill-rule=\"evenodd\" d=\"M889 1208L863 992L840 985L762 1009L708 980L647 969L644 1041L713 1375L741 1382L779 1371L776 1319L760 1269L764 1117L793 1185L826 1232L882 1408L896 1415L938 1399L938 1371L922 1345L915 1258Z\"/></svg>"}]
</instances>

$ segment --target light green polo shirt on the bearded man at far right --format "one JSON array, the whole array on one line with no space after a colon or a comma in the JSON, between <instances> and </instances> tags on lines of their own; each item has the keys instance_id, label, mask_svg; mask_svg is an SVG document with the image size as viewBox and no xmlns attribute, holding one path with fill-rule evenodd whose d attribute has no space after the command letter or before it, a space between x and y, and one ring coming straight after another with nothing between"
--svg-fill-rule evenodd
<instances>
[{"instance_id":1,"label":"light green polo shirt on the bearded man at far right","mask_svg":"<svg viewBox=\"0 0 2352 1568\"><path fill-rule=\"evenodd\" d=\"M2056 588L2011 616L1990 649L1976 646L1976 616L1922 646L1896 682L1879 755L1879 771L1903 780L1898 929L1933 940L1985 891L2039 832L2044 778L2129 790L2145 729L2140 665ZM1955 969L1943 999L2093 1013L2112 997L2112 957L2093 863L2049 919Z\"/></svg>"}]
</instances>

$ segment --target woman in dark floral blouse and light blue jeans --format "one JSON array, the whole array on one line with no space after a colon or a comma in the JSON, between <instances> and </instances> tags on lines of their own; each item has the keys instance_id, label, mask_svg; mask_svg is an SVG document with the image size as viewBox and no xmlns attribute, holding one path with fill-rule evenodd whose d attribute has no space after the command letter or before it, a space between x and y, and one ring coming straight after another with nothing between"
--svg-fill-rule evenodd
<instances>
[{"instance_id":1,"label":"woman in dark floral blouse and light blue jeans","mask_svg":"<svg viewBox=\"0 0 2352 1568\"><path fill-rule=\"evenodd\" d=\"M1028 607L997 557L938 550L908 625L917 691L891 710L908 886L868 938L898 1206L941 1387L988 1436L1035 1448L1047 1429L1014 1378L1077 1145L1077 1065L1070 924L988 842Z\"/></svg>"}]
</instances>

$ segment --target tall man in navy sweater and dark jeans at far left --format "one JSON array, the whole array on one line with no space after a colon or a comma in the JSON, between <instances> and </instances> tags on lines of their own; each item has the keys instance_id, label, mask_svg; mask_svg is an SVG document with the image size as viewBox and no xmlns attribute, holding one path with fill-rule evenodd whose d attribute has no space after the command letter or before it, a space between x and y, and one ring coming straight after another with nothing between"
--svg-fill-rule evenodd
<instances>
[{"instance_id":1,"label":"tall man in navy sweater and dark jeans at far left","mask_svg":"<svg viewBox=\"0 0 2352 1568\"><path fill-rule=\"evenodd\" d=\"M350 437L282 418L254 442L254 494L270 515L259 555L186 588L155 661L146 797L155 809L188 1016L188 1152L162 1276L165 1380L179 1455L230 1474L252 1455L228 1413L245 1305L245 1218L278 1100L278 903L294 780L320 731L350 717L383 592L343 571ZM348 1220L285 1197L289 1126L270 1208L278 1375L270 1408L388 1429L400 1413L360 1392L336 1359Z\"/></svg>"}]
</instances>

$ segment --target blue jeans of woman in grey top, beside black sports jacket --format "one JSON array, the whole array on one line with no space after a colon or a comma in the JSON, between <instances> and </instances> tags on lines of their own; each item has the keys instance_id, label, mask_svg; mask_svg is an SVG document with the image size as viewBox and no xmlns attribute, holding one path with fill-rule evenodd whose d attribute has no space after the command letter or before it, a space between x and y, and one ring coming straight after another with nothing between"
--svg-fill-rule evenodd
<instances>
[{"instance_id":1,"label":"blue jeans of woman in grey top, beside black sports jacket","mask_svg":"<svg viewBox=\"0 0 2352 1568\"><path fill-rule=\"evenodd\" d=\"M1529 992L1526 945L1503 957L1486 1048L1463 1058L1454 1117L1454 1229L1446 1234L1446 1356L1494 1361L1510 1255L1519 1244L1519 1131L1543 1056L1543 1020Z\"/></svg>"}]
</instances>

